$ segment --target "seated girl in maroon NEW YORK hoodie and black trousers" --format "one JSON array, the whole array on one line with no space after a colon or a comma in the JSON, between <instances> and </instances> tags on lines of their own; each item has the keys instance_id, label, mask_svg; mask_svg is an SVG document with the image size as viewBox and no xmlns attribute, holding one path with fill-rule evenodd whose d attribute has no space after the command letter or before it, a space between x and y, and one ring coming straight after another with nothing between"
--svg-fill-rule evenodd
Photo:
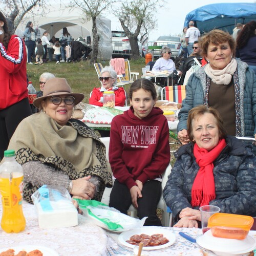
<instances>
[{"instance_id":1,"label":"seated girl in maroon NEW YORK hoodie and black trousers","mask_svg":"<svg viewBox=\"0 0 256 256\"><path fill-rule=\"evenodd\" d=\"M161 226L156 209L161 175L170 161L169 128L163 111L154 108L156 89L147 79L135 80L131 108L111 122L109 159L116 178L110 207L127 214L133 204L145 226Z\"/></svg>"}]
</instances>

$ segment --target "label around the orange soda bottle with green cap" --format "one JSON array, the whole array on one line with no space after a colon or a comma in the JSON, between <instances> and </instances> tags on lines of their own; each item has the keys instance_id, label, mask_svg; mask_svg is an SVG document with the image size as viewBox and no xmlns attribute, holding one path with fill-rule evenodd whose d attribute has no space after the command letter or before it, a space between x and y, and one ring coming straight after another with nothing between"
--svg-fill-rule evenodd
<instances>
[{"instance_id":1,"label":"label around the orange soda bottle with green cap","mask_svg":"<svg viewBox=\"0 0 256 256\"><path fill-rule=\"evenodd\" d=\"M0 177L0 191L3 207L18 207L22 204L23 174L13 173L12 180Z\"/></svg>"}]
</instances>

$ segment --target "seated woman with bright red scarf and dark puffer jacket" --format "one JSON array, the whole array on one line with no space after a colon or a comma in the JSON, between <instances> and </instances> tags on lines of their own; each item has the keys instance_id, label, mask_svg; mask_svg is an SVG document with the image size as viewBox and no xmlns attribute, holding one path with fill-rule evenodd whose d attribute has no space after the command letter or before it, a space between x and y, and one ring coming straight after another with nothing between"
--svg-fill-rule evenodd
<instances>
[{"instance_id":1,"label":"seated woman with bright red scarf and dark puffer jacket","mask_svg":"<svg viewBox=\"0 0 256 256\"><path fill-rule=\"evenodd\" d=\"M226 136L219 112L205 105L189 111L187 127L190 143L175 153L163 190L175 227L198 227L203 205L256 216L256 157L250 146Z\"/></svg>"}]
</instances>

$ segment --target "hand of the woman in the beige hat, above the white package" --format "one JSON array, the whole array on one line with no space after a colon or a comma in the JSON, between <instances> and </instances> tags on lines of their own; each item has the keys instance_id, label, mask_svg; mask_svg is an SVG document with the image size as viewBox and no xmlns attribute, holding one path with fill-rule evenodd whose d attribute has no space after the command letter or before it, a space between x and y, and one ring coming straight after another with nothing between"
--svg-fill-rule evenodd
<instances>
[{"instance_id":1,"label":"hand of the woman in the beige hat, above the white package","mask_svg":"<svg viewBox=\"0 0 256 256\"><path fill-rule=\"evenodd\" d=\"M82 199L92 199L95 195L96 187L93 183L88 181L91 176L72 180L72 189L70 194L81 197Z\"/></svg>"}]
</instances>

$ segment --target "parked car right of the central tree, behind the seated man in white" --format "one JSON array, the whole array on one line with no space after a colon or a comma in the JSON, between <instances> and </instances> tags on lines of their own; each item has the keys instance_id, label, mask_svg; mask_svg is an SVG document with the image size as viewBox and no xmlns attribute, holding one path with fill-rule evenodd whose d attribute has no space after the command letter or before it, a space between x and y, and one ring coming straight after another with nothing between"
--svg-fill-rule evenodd
<instances>
[{"instance_id":1,"label":"parked car right of the central tree, behind the seated man in white","mask_svg":"<svg viewBox=\"0 0 256 256\"><path fill-rule=\"evenodd\" d=\"M179 56L179 49L181 47L180 37L179 36L159 36L156 41L150 41L147 44L147 48L151 49L151 53L154 56L154 59L158 59L160 56L160 50L164 46L167 46L172 51L172 57ZM157 48L157 49L152 49Z\"/></svg>"}]
</instances>

